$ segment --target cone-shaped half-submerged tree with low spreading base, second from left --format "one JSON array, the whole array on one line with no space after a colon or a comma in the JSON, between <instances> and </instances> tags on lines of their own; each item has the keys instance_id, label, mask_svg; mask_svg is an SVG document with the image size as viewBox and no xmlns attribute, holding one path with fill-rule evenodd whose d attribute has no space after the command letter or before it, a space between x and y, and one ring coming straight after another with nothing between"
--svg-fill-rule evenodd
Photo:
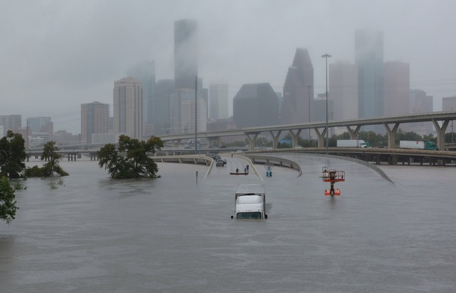
<instances>
[{"instance_id":1,"label":"cone-shaped half-submerged tree with low spreading base, second from left","mask_svg":"<svg viewBox=\"0 0 456 293\"><path fill-rule=\"evenodd\" d=\"M68 173L59 165L61 154L57 153L57 150L59 150L59 148L55 146L55 141L48 141L45 143L40 159L47 163L45 163L42 168L39 168L37 165L32 168L26 168L24 174L28 177L50 177L54 174L68 176Z\"/></svg>"}]
</instances>

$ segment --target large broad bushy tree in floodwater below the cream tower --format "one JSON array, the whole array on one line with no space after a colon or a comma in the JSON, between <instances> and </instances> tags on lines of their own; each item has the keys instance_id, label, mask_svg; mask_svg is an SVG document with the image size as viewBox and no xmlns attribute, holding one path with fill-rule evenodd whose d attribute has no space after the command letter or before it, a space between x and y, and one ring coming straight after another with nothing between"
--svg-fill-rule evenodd
<instances>
[{"instance_id":1,"label":"large broad bushy tree in floodwater below the cream tower","mask_svg":"<svg viewBox=\"0 0 456 293\"><path fill-rule=\"evenodd\" d=\"M139 141L121 135L117 150L112 143L99 150L98 165L100 168L104 167L111 178L154 178L158 167L147 154L153 154L162 147L163 141L158 137Z\"/></svg>"}]
</instances>

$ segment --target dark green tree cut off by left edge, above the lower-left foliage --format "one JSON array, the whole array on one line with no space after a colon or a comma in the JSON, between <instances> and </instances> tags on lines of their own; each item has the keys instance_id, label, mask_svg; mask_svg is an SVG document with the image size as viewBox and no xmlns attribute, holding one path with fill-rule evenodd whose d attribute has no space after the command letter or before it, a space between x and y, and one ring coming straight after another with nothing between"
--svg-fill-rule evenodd
<instances>
[{"instance_id":1,"label":"dark green tree cut off by left edge, above the lower-left foliage","mask_svg":"<svg viewBox=\"0 0 456 293\"><path fill-rule=\"evenodd\" d=\"M19 133L8 130L6 137L0 139L0 176L19 178L26 168L25 141Z\"/></svg>"}]
</instances>

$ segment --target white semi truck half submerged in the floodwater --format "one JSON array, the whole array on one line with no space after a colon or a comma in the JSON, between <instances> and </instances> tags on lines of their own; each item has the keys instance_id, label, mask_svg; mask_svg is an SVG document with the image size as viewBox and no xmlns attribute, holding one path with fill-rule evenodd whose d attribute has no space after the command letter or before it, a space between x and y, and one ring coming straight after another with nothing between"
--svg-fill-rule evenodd
<instances>
[{"instance_id":1,"label":"white semi truck half submerged in the floodwater","mask_svg":"<svg viewBox=\"0 0 456 293\"><path fill-rule=\"evenodd\" d=\"M267 219L264 184L241 184L235 195L236 206L231 219Z\"/></svg>"}]
</instances>

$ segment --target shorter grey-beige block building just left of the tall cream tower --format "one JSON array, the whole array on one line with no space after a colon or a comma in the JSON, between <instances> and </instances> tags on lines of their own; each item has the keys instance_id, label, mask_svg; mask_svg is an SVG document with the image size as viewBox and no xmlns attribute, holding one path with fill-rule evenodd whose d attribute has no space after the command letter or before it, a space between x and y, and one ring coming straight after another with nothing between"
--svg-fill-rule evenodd
<instances>
[{"instance_id":1,"label":"shorter grey-beige block building just left of the tall cream tower","mask_svg":"<svg viewBox=\"0 0 456 293\"><path fill-rule=\"evenodd\" d=\"M92 134L108 132L109 104L81 104L81 144L93 143Z\"/></svg>"}]
</instances>

